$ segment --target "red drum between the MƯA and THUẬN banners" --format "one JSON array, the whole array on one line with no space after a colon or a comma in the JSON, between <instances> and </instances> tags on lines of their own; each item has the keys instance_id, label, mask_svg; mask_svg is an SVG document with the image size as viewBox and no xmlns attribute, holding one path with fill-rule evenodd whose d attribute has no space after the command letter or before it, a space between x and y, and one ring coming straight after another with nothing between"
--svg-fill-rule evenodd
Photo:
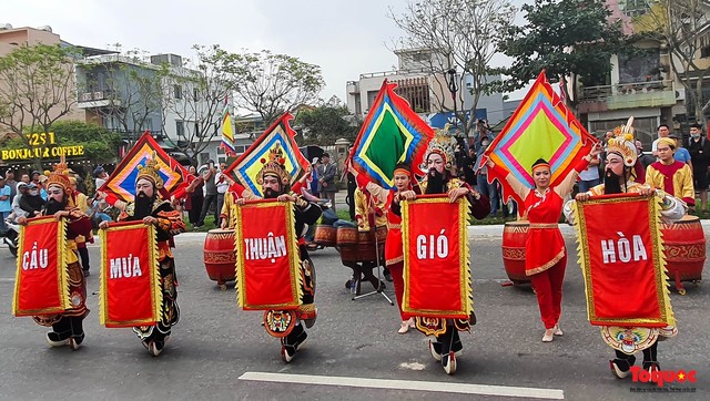
<instances>
[{"instance_id":1,"label":"red drum between the M\u01afA and THU\u1eacN banners","mask_svg":"<svg viewBox=\"0 0 710 401\"><path fill-rule=\"evenodd\" d=\"M234 230L211 229L204 239L204 267L211 280L226 289L226 281L236 278L236 256L234 254Z\"/></svg>"}]
</instances>

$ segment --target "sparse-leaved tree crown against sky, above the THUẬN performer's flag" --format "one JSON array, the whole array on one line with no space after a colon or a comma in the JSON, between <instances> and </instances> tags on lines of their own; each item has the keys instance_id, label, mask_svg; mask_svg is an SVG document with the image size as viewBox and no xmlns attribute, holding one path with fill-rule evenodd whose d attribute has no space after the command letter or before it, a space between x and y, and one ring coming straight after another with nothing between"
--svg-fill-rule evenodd
<instances>
[{"instance_id":1,"label":"sparse-leaved tree crown against sky, above the THU\u1eacN performer's flag","mask_svg":"<svg viewBox=\"0 0 710 401\"><path fill-rule=\"evenodd\" d=\"M236 54L231 69L236 106L258 113L266 124L285 111L314 103L325 85L318 65L268 50Z\"/></svg>"}]
</instances>

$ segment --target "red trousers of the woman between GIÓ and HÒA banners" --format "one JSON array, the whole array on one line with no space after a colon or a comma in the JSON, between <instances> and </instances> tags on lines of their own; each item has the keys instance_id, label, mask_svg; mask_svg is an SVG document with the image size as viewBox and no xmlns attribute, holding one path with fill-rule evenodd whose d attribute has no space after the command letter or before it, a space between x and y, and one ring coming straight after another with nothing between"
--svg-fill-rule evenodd
<instances>
[{"instance_id":1,"label":"red trousers of the woman between GI\u00d3 and H\u00d2A banners","mask_svg":"<svg viewBox=\"0 0 710 401\"><path fill-rule=\"evenodd\" d=\"M562 312L562 281L567 268L567 253L560 261L549 269L528 276L537 295L540 318L546 329L551 329L559 321Z\"/></svg>"}]
</instances>

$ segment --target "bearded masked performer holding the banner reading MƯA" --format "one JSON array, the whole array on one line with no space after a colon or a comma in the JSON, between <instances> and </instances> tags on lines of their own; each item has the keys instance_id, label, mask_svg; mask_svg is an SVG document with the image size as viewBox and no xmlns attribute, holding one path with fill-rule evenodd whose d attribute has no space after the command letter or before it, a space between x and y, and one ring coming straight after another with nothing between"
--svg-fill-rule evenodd
<instances>
[{"instance_id":1,"label":"bearded masked performer holding the banner reading M\u01afA","mask_svg":"<svg viewBox=\"0 0 710 401\"><path fill-rule=\"evenodd\" d=\"M169 200L164 200L159 193L163 188L163 179L154 161L139 167L135 177L135 199L131 203L116 200L113 205L121 214L119 222L142 220L145 225L155 226L158 234L158 261L160 269L160 288L163 292L161 320L155 326L134 327L148 351L158 357L170 339L171 328L180 319L178 308L178 278L175 276L175 259L170 243L174 235L185 230L185 223L180 212L174 210ZM105 228L109 222L102 222L100 227Z\"/></svg>"}]
</instances>

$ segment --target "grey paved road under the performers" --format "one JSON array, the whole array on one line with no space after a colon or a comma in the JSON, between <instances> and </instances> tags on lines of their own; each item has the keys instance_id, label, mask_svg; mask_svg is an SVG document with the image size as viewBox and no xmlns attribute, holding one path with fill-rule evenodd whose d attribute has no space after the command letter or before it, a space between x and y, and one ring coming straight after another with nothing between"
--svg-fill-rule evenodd
<instances>
[{"instance_id":1,"label":"grey paved road under the performers","mask_svg":"<svg viewBox=\"0 0 710 401\"><path fill-rule=\"evenodd\" d=\"M518 399L515 394L569 400L710 398L707 285L689 286L686 296L671 294L680 333L659 347L662 368L698 371L696 392L635 393L630 388L637 385L630 380L611 377L607 361L612 352L587 322L576 257L570 257L565 282L565 336L542 343L534 294L524 287L500 286L506 278L500 232L500 227L471 229L478 325L470 335L463 336L465 353L453 377L447 377L428 354L425 337L417 332L397 335L396 307L379 295L351 300L343 286L348 270L332 248L313 253L318 273L318 321L310 330L304 350L285 364L278 341L260 326L261 315L239 310L233 286L221 291L207 279L201 261L204 234L178 237L182 319L160 358L149 356L130 330L102 328L97 295L89 298L93 311L85 320L85 347L74 352L49 348L44 328L28 318L11 317L14 259L2 247L0 399ZM565 232L568 249L574 251L571 233ZM99 248L90 251L95 269ZM93 275L89 289L95 294L98 287L99 277ZM542 390L535 393L530 388ZM491 395L500 393L507 395Z\"/></svg>"}]
</instances>

